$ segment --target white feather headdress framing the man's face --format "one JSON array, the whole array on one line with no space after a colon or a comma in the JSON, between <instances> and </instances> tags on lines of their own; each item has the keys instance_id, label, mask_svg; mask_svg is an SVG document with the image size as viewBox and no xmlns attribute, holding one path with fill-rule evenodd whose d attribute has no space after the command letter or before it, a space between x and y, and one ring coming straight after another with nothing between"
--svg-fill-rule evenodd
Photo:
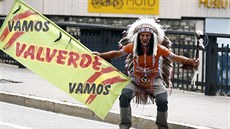
<instances>
[{"instance_id":1,"label":"white feather headdress framing the man's face","mask_svg":"<svg viewBox=\"0 0 230 129\"><path fill-rule=\"evenodd\" d=\"M161 43L164 40L164 30L161 25L156 22L155 18L141 17L130 25L127 31L127 38L130 42L134 43L133 54L137 55L137 40L138 34L141 32L148 32L153 35L153 55L157 53L157 43Z\"/></svg>"}]
</instances>

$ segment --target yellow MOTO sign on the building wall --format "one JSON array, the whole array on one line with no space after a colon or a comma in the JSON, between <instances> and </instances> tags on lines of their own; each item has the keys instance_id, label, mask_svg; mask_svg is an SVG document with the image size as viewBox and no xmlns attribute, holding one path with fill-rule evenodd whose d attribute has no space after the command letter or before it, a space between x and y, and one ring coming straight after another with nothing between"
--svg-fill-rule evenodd
<instances>
[{"instance_id":1,"label":"yellow MOTO sign on the building wall","mask_svg":"<svg viewBox=\"0 0 230 129\"><path fill-rule=\"evenodd\" d=\"M88 0L90 13L159 14L159 0Z\"/></svg>"}]
</instances>

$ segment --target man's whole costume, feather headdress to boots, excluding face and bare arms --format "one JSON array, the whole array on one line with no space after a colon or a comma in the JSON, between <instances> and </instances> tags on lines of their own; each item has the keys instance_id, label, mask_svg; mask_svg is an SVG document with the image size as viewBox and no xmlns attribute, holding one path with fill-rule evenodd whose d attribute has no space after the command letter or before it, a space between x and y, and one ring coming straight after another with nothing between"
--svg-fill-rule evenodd
<instances>
[{"instance_id":1,"label":"man's whole costume, feather headdress to boots, excluding face and bare arms","mask_svg":"<svg viewBox=\"0 0 230 129\"><path fill-rule=\"evenodd\" d=\"M128 55L126 59L127 73L132 84L123 89L120 96L121 129L131 126L130 100L136 96L136 103L154 102L158 106L157 125L168 128L167 125L167 91L163 84L171 86L171 42L164 35L164 30L154 18L140 18L124 33L119 42L120 51ZM148 47L142 47L140 33L151 34ZM168 49L167 49L167 48ZM124 103L128 100L128 104Z\"/></svg>"}]
</instances>

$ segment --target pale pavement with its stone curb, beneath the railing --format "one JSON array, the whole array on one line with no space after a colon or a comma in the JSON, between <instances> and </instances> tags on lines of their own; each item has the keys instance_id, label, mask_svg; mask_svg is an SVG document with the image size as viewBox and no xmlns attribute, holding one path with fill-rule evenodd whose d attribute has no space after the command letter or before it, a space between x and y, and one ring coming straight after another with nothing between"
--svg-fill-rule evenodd
<instances>
[{"instance_id":1,"label":"pale pavement with its stone curb, beneath the railing","mask_svg":"<svg viewBox=\"0 0 230 129\"><path fill-rule=\"evenodd\" d=\"M230 129L230 97L173 89L168 100L170 129ZM101 120L42 77L15 65L0 63L0 101L119 124L118 99L105 120ZM131 106L133 128L156 128L156 105L132 102Z\"/></svg>"}]
</instances>

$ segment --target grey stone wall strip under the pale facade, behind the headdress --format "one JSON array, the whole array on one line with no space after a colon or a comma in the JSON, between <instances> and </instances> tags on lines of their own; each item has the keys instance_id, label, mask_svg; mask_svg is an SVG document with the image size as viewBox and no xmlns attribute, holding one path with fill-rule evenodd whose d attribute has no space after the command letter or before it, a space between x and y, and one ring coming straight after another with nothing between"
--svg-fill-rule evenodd
<instances>
[{"instance_id":1,"label":"grey stone wall strip under the pale facade, behind the headdress","mask_svg":"<svg viewBox=\"0 0 230 129\"><path fill-rule=\"evenodd\" d=\"M54 22L76 22L86 24L103 24L118 27L126 27L132 24L136 19L134 18L106 18L106 17L62 17L62 16L47 16ZM178 30L194 32L196 30L197 22L204 20L196 19L160 19L160 23L165 30ZM203 24L204 25L204 24Z\"/></svg>"}]
</instances>

